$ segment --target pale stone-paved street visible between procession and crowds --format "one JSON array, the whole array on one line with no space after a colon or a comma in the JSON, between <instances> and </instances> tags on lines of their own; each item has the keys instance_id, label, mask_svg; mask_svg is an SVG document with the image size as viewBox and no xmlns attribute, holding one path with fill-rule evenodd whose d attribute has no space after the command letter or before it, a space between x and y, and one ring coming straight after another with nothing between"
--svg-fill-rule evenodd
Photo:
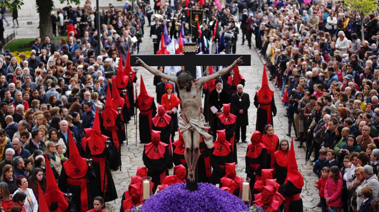
<instances>
[{"instance_id":1,"label":"pale stone-paved street visible between procession and crowds","mask_svg":"<svg viewBox=\"0 0 379 212\"><path fill-rule=\"evenodd\" d=\"M143 43L141 44L140 54L152 54L153 53L153 45L152 40L148 36L149 28L145 27L145 36ZM252 38L254 40L254 38ZM244 76L246 83L244 88L244 93L250 95L250 107L249 107L249 126L247 127L247 140L249 141L252 133L255 131L255 122L257 117L257 108L255 108L254 95L255 95L255 87L257 85L261 86L262 84L262 72L263 72L263 61L257 54L257 52L253 49L249 49L247 46L247 42L245 42L244 46L241 46L242 35L241 33L238 35L237 41L237 54L251 54L251 66L241 66L240 73ZM148 63L147 63L148 64ZM133 66L133 64L132 64ZM133 68L133 67L132 67ZM140 75L143 75L144 82L146 86L146 90L149 94L156 96L155 94L155 86L153 85L153 75L150 74L146 69L139 68L138 71L138 83L140 82ZM274 117L274 133L279 136L279 140L283 138L287 138L291 141L291 138L287 137L285 133L287 133L288 124L287 117L283 116L286 113L285 107L281 104L281 95L280 91L277 90L273 83L269 82L271 90L275 91L274 99L277 107L277 114ZM139 88L138 88L139 93ZM294 133L294 131L292 130ZM120 210L121 206L121 197L124 191L128 189L128 185L130 183L130 177L135 175L137 166L144 166L142 161L142 151L143 144L139 144L139 134L136 136L135 122L134 119L130 121L128 124L128 145L124 142L124 145L121 147L122 151L122 171L112 171L114 183L116 184L117 194L119 196L115 201L107 203L106 210L109 212L116 212ZM292 134L294 135L294 134ZM137 138L137 145L136 145ZM176 135L177 138L177 135ZM305 149L299 149L298 142L294 142L295 151L296 151L296 159L298 162L299 171L304 176L305 185L303 187L301 196L304 204L304 211L318 211L319 209L316 207L316 204L319 202L318 190L313 187L314 180L317 179L316 175L313 173L312 165L305 165ZM238 176L246 176L245 173L245 154L246 154L246 143L238 143L238 164L236 166L236 171ZM173 171L170 170L170 174Z\"/></svg>"}]
</instances>

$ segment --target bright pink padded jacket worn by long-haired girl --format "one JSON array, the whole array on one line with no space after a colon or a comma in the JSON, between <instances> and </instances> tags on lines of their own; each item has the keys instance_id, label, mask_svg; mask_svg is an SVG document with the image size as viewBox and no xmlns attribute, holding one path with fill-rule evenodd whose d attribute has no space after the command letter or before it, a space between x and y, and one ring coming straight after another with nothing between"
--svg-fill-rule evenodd
<instances>
[{"instance_id":1,"label":"bright pink padded jacket worn by long-haired girl","mask_svg":"<svg viewBox=\"0 0 379 212\"><path fill-rule=\"evenodd\" d=\"M332 177L329 177L324 187L324 198L329 198L329 202L326 202L331 207L342 206L342 178L337 183L333 181Z\"/></svg>"}]
</instances>

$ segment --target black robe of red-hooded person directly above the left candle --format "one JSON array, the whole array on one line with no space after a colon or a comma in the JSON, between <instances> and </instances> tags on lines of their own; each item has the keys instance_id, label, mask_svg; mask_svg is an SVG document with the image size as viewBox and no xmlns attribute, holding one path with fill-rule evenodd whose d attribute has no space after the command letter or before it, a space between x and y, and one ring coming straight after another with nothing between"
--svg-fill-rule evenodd
<instances>
[{"instance_id":1,"label":"black robe of red-hooded person directly above the left candle","mask_svg":"<svg viewBox=\"0 0 379 212\"><path fill-rule=\"evenodd\" d=\"M145 147L143 148L142 154L143 164L147 168L147 176L152 177L151 182L154 183L153 193L157 189L158 185L161 185L160 174L166 170L166 176L168 176L168 168L170 164L170 155L168 151L168 146L166 146L163 158L160 159L150 159L145 153Z\"/></svg>"}]
</instances>

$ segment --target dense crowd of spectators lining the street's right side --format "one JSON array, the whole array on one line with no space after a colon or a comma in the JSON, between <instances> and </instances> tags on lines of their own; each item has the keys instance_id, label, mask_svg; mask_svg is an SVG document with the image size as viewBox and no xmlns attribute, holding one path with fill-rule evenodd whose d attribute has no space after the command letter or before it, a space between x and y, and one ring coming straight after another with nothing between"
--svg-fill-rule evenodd
<instances>
[{"instance_id":1,"label":"dense crowd of spectators lining the street's right side","mask_svg":"<svg viewBox=\"0 0 379 212\"><path fill-rule=\"evenodd\" d=\"M287 135L314 155L322 211L378 209L378 12L365 16L363 37L359 15L332 0L280 0L249 14Z\"/></svg>"}]
</instances>

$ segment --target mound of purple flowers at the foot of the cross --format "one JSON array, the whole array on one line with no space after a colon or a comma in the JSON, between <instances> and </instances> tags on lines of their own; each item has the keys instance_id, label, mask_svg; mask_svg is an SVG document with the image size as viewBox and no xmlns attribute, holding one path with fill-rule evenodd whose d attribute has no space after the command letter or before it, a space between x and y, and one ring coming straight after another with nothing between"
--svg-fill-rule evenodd
<instances>
[{"instance_id":1,"label":"mound of purple flowers at the foot of the cross","mask_svg":"<svg viewBox=\"0 0 379 212\"><path fill-rule=\"evenodd\" d=\"M173 184L153 195L141 207L141 212L241 212L249 208L229 192L212 184L199 183L196 192L186 190L186 184Z\"/></svg>"}]
</instances>

